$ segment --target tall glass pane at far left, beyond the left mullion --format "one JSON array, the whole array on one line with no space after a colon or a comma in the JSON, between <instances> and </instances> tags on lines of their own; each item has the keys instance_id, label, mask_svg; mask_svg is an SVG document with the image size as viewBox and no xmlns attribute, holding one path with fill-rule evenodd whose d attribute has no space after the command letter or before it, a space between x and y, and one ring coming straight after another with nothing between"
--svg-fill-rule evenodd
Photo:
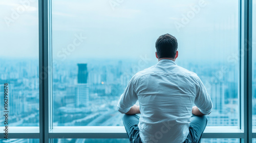
<instances>
[{"instance_id":1,"label":"tall glass pane at far left, beyond the left mullion","mask_svg":"<svg viewBox=\"0 0 256 143\"><path fill-rule=\"evenodd\" d=\"M38 1L0 9L0 126L39 126Z\"/></svg>"}]
</instances>

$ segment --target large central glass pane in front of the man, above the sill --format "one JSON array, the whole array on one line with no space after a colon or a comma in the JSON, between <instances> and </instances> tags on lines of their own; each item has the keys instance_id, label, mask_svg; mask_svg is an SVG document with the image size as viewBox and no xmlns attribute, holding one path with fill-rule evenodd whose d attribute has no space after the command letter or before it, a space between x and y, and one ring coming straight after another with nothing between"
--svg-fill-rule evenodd
<instances>
[{"instance_id":1,"label":"large central glass pane in front of the man, above the sill","mask_svg":"<svg viewBox=\"0 0 256 143\"><path fill-rule=\"evenodd\" d=\"M238 8L231 0L53 0L53 125L122 126L120 94L157 63L156 39L170 33L177 64L212 98L208 126L237 126Z\"/></svg>"}]
</instances>

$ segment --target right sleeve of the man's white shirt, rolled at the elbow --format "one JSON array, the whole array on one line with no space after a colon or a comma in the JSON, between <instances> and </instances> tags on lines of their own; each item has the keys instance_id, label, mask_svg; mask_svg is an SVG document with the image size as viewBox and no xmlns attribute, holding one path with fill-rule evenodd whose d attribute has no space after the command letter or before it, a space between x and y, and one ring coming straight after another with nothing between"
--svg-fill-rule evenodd
<instances>
[{"instance_id":1,"label":"right sleeve of the man's white shirt, rolled at the elbow","mask_svg":"<svg viewBox=\"0 0 256 143\"><path fill-rule=\"evenodd\" d=\"M195 105L199 108L199 111L205 115L209 114L212 111L212 102L210 96L207 93L207 90L200 78L198 78Z\"/></svg>"}]
</instances>

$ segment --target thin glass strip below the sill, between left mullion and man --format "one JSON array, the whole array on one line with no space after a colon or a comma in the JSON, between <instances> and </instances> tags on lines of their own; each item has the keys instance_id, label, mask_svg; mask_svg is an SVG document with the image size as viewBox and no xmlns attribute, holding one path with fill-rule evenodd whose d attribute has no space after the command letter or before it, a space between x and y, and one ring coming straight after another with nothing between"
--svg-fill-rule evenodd
<instances>
[{"instance_id":1,"label":"thin glass strip below the sill, between left mullion and man","mask_svg":"<svg viewBox=\"0 0 256 143\"><path fill-rule=\"evenodd\" d=\"M58 142L65 142L65 143L76 143L76 142L83 142L83 143L101 143L101 142L111 142L111 143L129 143L129 139L120 139L120 138L54 138L53 143L58 143Z\"/></svg>"}]
</instances>

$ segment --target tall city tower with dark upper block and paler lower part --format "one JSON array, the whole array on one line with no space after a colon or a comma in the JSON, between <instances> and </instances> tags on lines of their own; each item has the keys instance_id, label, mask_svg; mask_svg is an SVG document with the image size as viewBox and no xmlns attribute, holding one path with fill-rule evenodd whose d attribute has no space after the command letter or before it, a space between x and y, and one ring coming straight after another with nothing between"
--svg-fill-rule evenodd
<instances>
[{"instance_id":1,"label":"tall city tower with dark upper block and paler lower part","mask_svg":"<svg viewBox=\"0 0 256 143\"><path fill-rule=\"evenodd\" d=\"M77 64L76 107L89 105L88 70L86 63Z\"/></svg>"}]
</instances>

